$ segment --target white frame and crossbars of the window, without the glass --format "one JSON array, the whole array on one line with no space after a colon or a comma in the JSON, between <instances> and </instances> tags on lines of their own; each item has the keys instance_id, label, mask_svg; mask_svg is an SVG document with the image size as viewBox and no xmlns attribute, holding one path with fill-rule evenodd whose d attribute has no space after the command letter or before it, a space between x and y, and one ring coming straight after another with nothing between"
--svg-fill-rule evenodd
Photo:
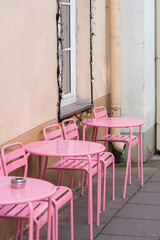
<instances>
[{"instance_id":1,"label":"white frame and crossbars of the window, without the glass","mask_svg":"<svg viewBox=\"0 0 160 240\"><path fill-rule=\"evenodd\" d=\"M62 51L70 50L71 57L71 92L63 95L61 100L61 107L67 106L76 102L76 0L68 2L60 2L61 5L70 6L70 48L64 48Z\"/></svg>"}]
</instances>

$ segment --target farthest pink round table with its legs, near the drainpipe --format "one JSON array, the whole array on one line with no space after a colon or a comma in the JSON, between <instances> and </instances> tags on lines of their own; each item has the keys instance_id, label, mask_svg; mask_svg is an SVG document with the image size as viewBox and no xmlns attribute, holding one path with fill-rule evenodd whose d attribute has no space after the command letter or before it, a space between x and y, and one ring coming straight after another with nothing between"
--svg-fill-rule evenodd
<instances>
[{"instance_id":1,"label":"farthest pink round table with its legs, near the drainpipe","mask_svg":"<svg viewBox=\"0 0 160 240\"><path fill-rule=\"evenodd\" d=\"M106 117L106 118L92 118L83 120L84 124L83 128L83 139L85 139L85 129L86 126L93 127L93 137L92 140L95 141L96 131L98 127L103 128L129 128L130 129L130 141L128 146L128 155L127 155L127 164L126 164L126 174L124 181L124 191L123 198L126 196L126 188L127 188L127 178L128 178L128 168L131 166L131 139L133 127L139 127L140 131L140 159L141 159L141 186L143 186L143 144L142 144L142 125L144 121L137 118L123 118L123 117ZM131 170L130 170L131 171ZM131 183L131 173L129 174L129 183Z\"/></svg>"}]
</instances>

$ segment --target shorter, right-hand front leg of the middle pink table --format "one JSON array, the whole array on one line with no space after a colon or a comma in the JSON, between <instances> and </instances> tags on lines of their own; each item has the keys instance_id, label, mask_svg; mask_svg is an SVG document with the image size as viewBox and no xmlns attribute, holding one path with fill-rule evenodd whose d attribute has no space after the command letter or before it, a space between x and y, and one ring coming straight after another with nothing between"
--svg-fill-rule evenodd
<instances>
[{"instance_id":1,"label":"shorter, right-hand front leg of the middle pink table","mask_svg":"<svg viewBox=\"0 0 160 240\"><path fill-rule=\"evenodd\" d=\"M99 227L101 212L101 164L100 154L97 154L97 227Z\"/></svg>"}]
</instances>

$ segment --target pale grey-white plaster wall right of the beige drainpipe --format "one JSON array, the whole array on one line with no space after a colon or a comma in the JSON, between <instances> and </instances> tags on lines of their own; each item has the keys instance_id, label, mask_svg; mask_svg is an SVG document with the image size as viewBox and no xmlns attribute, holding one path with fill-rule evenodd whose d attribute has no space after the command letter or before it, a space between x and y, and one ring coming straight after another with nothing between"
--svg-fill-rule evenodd
<instances>
[{"instance_id":1,"label":"pale grey-white plaster wall right of the beige drainpipe","mask_svg":"<svg viewBox=\"0 0 160 240\"><path fill-rule=\"evenodd\" d=\"M143 138L148 142L145 132L152 133L154 141L148 144L154 152L155 2L120 0L120 33L122 116L144 119Z\"/></svg>"}]
</instances>

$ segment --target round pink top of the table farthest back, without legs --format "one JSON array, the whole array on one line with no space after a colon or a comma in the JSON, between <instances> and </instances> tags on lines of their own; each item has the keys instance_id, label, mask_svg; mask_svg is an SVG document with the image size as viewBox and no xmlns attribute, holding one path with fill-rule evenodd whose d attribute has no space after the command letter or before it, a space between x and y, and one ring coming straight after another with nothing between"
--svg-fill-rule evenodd
<instances>
[{"instance_id":1,"label":"round pink top of the table farthest back, without legs","mask_svg":"<svg viewBox=\"0 0 160 240\"><path fill-rule=\"evenodd\" d=\"M144 124L144 120L137 118L108 117L83 120L82 123L92 127L137 127Z\"/></svg>"}]
</instances>

